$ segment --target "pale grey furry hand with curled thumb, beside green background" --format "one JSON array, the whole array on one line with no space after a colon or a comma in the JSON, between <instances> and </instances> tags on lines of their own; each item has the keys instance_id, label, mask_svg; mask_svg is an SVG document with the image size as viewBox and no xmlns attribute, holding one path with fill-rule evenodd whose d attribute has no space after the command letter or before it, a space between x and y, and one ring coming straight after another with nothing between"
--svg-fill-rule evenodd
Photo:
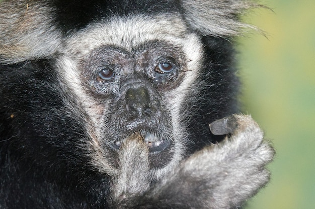
<instances>
[{"instance_id":1,"label":"pale grey furry hand with curled thumb, beside green background","mask_svg":"<svg viewBox=\"0 0 315 209\"><path fill-rule=\"evenodd\" d=\"M163 199L160 208L237 208L269 181L274 149L250 116L232 115L210 129L227 136L187 158L151 191Z\"/></svg>"}]
</instances>

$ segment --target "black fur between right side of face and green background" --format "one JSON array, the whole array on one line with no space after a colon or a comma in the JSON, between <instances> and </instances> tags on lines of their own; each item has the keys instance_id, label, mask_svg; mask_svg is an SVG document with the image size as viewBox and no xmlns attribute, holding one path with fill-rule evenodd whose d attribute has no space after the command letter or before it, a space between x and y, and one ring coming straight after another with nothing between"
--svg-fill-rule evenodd
<instances>
[{"instance_id":1,"label":"black fur between right side of face and green background","mask_svg":"<svg viewBox=\"0 0 315 209\"><path fill-rule=\"evenodd\" d=\"M192 88L199 89L198 95L187 97L186 108L192 108L192 115L185 120L194 140L189 146L194 152L205 144L220 141L224 136L213 135L207 124L214 120L238 113L239 79L235 76L234 50L232 43L225 39L203 37L207 54L200 81ZM211 69L209 71L209 69ZM215 84L215 85L213 85ZM195 100L195 98L200 98Z\"/></svg>"}]
</instances>

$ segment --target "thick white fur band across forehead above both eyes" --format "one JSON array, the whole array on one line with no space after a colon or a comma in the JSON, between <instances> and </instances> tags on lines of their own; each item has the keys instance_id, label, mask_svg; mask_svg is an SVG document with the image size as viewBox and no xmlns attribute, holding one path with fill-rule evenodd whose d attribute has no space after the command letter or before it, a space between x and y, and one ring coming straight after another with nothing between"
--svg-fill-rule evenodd
<instances>
[{"instance_id":1,"label":"thick white fur band across forehead above both eyes","mask_svg":"<svg viewBox=\"0 0 315 209\"><path fill-rule=\"evenodd\" d=\"M67 53L84 57L101 46L115 46L132 51L141 43L159 40L180 44L187 34L179 17L112 17L88 26L67 42Z\"/></svg>"}]
</instances>

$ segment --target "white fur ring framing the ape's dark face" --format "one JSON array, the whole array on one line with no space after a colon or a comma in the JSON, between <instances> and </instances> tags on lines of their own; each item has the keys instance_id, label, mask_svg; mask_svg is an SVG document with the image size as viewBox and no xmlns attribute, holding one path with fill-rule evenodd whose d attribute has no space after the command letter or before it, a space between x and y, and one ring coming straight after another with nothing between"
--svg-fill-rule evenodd
<instances>
[{"instance_id":1,"label":"white fur ring framing the ape's dark face","mask_svg":"<svg viewBox=\"0 0 315 209\"><path fill-rule=\"evenodd\" d=\"M202 44L199 37L194 33L188 33L182 19L168 18L168 17L143 17L131 16L125 18L112 18L110 21L99 23L96 25L88 26L87 29L73 35L66 43L64 54L66 54L64 61L69 66L63 71L63 78L68 81L70 88L74 95L80 98L83 103L85 112L88 113L91 119L92 126L87 127L90 129L92 140L92 147L94 149L93 164L99 168L100 171L104 167L109 168L106 160L106 155L102 152L100 144L101 133L104 127L99 121L99 114L96 114L98 107L94 105L93 98L89 98L84 90L84 83L80 81L78 75L80 72L80 63L82 60L87 59L95 49L111 46L120 48L131 52L141 44L150 41L165 41L173 46L181 49L184 53L185 69L184 76L181 84L175 89L167 92L169 112L172 117L173 135L175 138L175 147L173 159L169 165L162 169L153 171L156 178L161 178L165 175L171 167L177 165L183 158L182 150L187 140L187 133L181 127L180 119L182 118L181 107L185 103L185 96L191 91L191 86L198 76L198 71L201 67L201 58L203 54ZM60 70L62 70L60 68ZM103 107L103 111L104 111ZM101 108L102 109L102 108ZM93 130L91 130L91 128ZM111 172L113 173L113 171Z\"/></svg>"}]
</instances>

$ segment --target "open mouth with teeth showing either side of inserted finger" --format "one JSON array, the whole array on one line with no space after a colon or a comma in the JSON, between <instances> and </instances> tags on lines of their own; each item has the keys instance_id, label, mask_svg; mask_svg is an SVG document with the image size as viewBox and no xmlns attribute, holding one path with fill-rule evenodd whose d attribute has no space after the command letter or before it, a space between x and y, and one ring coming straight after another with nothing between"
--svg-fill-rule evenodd
<instances>
[{"instance_id":1,"label":"open mouth with teeth showing either side of inserted finger","mask_svg":"<svg viewBox=\"0 0 315 209\"><path fill-rule=\"evenodd\" d=\"M141 130L140 134L142 135L144 142L147 144L149 152L160 152L163 151L170 145L169 140L164 140L159 138L156 134ZM123 140L117 140L112 143L112 146L115 149L119 149Z\"/></svg>"}]
</instances>

